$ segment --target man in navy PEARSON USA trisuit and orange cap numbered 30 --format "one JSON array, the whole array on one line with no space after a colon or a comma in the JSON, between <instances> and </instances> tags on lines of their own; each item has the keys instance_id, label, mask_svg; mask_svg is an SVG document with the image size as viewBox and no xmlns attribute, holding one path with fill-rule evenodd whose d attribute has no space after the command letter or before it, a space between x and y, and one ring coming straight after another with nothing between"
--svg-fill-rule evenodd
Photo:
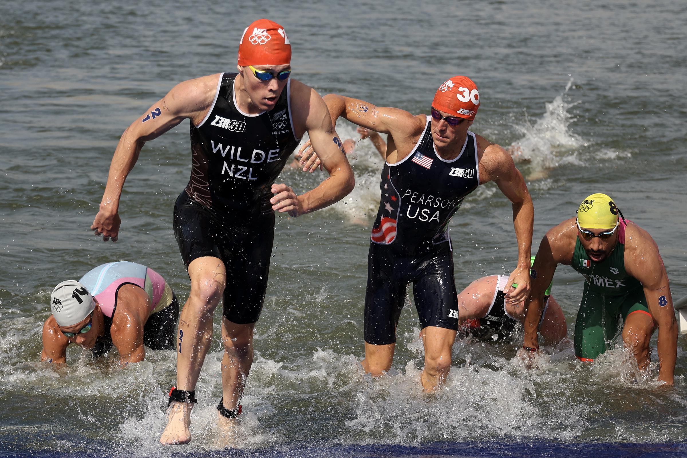
<instances>
[{"instance_id":1,"label":"man in navy PEARSON USA trisuit and orange cap numbered 30","mask_svg":"<svg viewBox=\"0 0 687 458\"><path fill-rule=\"evenodd\" d=\"M425 391L433 391L449 373L458 329L449 219L477 185L497 183L513 203L518 246L517 268L504 292L508 303L519 303L530 290L532 198L510 154L468 131L480 105L477 86L469 78L455 76L441 85L431 117L341 95L324 100L334 121L344 116L389 135L368 256L363 368L372 376L391 368L396 324L412 282L424 330L421 382ZM514 283L518 287L512 290Z\"/></svg>"}]
</instances>

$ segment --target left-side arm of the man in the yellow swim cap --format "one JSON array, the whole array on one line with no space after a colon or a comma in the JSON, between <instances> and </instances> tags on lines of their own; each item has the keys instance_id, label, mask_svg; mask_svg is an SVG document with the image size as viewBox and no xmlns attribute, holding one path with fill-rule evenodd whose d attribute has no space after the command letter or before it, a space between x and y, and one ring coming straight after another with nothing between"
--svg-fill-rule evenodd
<instances>
[{"instance_id":1,"label":"left-side arm of the man in the yellow swim cap","mask_svg":"<svg viewBox=\"0 0 687 458\"><path fill-rule=\"evenodd\" d=\"M576 237L575 218L571 218L549 229L539 243L537 257L532 264L532 290L524 306L524 347L539 347L539 321L544 310L544 293L551 284L556 266L570 265L572 262Z\"/></svg>"}]
</instances>

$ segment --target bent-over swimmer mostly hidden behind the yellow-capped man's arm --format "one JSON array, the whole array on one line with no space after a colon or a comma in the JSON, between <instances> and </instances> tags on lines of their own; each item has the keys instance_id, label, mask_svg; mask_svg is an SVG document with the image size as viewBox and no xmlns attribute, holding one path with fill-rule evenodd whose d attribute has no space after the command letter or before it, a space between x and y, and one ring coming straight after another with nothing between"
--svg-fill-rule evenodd
<instances>
[{"instance_id":1,"label":"bent-over swimmer mostly hidden behind the yellow-capped man's arm","mask_svg":"<svg viewBox=\"0 0 687 458\"><path fill-rule=\"evenodd\" d=\"M534 262L534 256L532 256ZM525 321L523 304L507 304L504 288L506 275L476 279L458 294L458 332L485 341L509 341L517 323ZM544 292L544 310L539 331L545 345L565 339L567 325L561 306L551 295L550 284Z\"/></svg>"}]
</instances>

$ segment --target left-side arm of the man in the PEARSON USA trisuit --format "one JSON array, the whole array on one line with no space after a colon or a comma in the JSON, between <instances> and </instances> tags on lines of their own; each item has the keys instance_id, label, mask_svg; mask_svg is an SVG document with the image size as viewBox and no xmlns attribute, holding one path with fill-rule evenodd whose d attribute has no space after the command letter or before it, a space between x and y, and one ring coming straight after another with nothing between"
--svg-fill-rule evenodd
<instances>
[{"instance_id":1,"label":"left-side arm of the man in the PEARSON USA trisuit","mask_svg":"<svg viewBox=\"0 0 687 458\"><path fill-rule=\"evenodd\" d=\"M407 150L406 153L409 154L425 130L426 115L415 116L400 108L374 106L364 100L337 94L327 94L323 99L335 125L336 120L343 116L353 124L388 134L389 143L382 156L385 160L391 159L392 162L396 162L403 159L397 157L398 147L401 147L403 152Z\"/></svg>"}]
</instances>

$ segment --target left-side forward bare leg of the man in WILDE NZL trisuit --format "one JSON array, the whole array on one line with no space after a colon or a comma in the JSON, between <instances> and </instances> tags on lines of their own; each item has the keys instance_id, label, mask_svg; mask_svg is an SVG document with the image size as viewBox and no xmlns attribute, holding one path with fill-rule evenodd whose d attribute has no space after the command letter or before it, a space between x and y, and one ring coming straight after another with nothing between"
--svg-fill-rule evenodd
<instances>
[{"instance_id":1,"label":"left-side forward bare leg of the man in WILDE NZL trisuit","mask_svg":"<svg viewBox=\"0 0 687 458\"><path fill-rule=\"evenodd\" d=\"M181 310L177 332L177 389L194 391L212 339L212 314L219 304L227 282L224 263L218 257L204 256L188 266L191 292ZM192 403L172 402L164 444L185 444L191 439L188 427Z\"/></svg>"}]
</instances>

